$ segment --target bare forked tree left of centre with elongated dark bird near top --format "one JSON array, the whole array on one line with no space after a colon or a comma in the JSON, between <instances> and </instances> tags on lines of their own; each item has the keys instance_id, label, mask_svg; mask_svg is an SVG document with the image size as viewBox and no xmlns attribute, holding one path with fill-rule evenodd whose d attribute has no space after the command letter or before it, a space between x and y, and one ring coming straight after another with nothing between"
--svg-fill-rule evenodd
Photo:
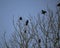
<instances>
[{"instance_id":1,"label":"bare forked tree left of centre with elongated dark bird near top","mask_svg":"<svg viewBox=\"0 0 60 48\"><path fill-rule=\"evenodd\" d=\"M18 19L17 27L15 27L14 20L13 25L15 28L15 32L12 35L11 47L13 48L41 48L40 43L41 39L38 35L37 24L34 25L30 20L26 20L23 22Z\"/></svg>"}]
</instances>

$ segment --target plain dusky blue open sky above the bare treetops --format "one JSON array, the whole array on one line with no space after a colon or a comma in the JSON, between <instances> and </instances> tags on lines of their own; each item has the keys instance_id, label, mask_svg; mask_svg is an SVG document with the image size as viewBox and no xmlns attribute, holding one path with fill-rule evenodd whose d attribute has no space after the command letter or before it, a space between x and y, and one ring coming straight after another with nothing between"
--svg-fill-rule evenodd
<instances>
[{"instance_id":1,"label":"plain dusky blue open sky above the bare treetops","mask_svg":"<svg viewBox=\"0 0 60 48\"><path fill-rule=\"evenodd\" d=\"M14 31L13 16L15 22L19 16L36 16L47 8L47 4L50 9L55 10L56 2L57 0L0 0L0 36L4 31Z\"/></svg>"}]
</instances>

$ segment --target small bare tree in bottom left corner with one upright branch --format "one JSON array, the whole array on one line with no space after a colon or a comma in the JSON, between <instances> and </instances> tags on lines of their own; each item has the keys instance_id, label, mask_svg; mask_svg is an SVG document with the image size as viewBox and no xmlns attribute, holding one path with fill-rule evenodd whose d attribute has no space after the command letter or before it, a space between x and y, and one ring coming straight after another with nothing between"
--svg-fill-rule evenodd
<instances>
[{"instance_id":1,"label":"small bare tree in bottom left corner with one upright branch","mask_svg":"<svg viewBox=\"0 0 60 48\"><path fill-rule=\"evenodd\" d=\"M10 48L9 42L6 39L6 32L3 32L3 36L1 36L0 48Z\"/></svg>"}]
</instances>

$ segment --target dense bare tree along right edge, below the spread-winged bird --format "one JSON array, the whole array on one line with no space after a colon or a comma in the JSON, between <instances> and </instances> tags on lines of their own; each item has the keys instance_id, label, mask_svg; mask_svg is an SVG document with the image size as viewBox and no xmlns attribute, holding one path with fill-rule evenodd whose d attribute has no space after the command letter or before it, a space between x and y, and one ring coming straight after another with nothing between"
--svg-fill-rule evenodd
<instances>
[{"instance_id":1,"label":"dense bare tree along right edge, below the spread-winged bird","mask_svg":"<svg viewBox=\"0 0 60 48\"><path fill-rule=\"evenodd\" d=\"M38 15L38 24L44 34L43 44L45 48L59 48L60 46L60 6L57 8L57 14L51 9L47 9L48 14Z\"/></svg>"}]
</instances>

